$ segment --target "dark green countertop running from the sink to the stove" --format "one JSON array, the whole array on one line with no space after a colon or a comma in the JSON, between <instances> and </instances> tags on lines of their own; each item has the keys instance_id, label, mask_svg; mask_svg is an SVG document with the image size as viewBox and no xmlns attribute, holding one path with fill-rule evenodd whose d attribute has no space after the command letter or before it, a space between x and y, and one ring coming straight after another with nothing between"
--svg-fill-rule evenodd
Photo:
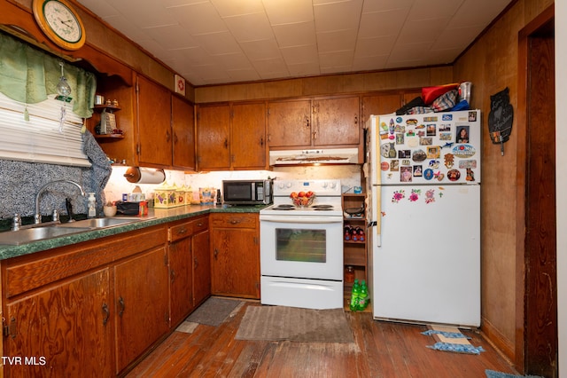
<instances>
[{"instance_id":1,"label":"dark green countertop running from the sink to the stove","mask_svg":"<svg viewBox=\"0 0 567 378\"><path fill-rule=\"evenodd\" d=\"M58 238L37 240L31 243L22 244L19 246L0 245L0 260L5 260L12 257L23 256L40 252L43 250L64 247L71 244L80 243L82 241L95 240L104 238L105 236L116 235L122 232L139 230L145 227L150 227L156 224L164 224L175 222L176 220L186 219L190 217L197 217L209 213L259 213L260 209L266 206L199 206L190 205L182 206L173 209L149 209L146 219L140 222L133 222L128 224L121 224L113 227L100 228L89 230L85 232L77 232L70 235L61 236ZM116 217L125 217L117 215ZM11 231L6 231L11 232Z\"/></svg>"}]
</instances>

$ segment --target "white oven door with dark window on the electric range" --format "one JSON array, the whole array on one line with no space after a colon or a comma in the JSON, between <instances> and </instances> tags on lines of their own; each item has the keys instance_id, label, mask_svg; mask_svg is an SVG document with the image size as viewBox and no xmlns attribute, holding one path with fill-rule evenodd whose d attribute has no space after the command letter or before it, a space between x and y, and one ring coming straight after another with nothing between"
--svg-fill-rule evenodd
<instances>
[{"instance_id":1,"label":"white oven door with dark window on the electric range","mask_svg":"<svg viewBox=\"0 0 567 378\"><path fill-rule=\"evenodd\" d=\"M343 280L343 219L260 214L262 276Z\"/></svg>"}]
</instances>

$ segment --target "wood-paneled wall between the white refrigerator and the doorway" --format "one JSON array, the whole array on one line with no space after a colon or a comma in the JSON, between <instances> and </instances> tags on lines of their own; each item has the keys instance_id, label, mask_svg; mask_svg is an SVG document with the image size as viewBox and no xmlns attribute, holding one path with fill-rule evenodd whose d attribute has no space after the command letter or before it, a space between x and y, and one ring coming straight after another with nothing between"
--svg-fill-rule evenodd
<instances>
[{"instance_id":1,"label":"wood-paneled wall between the white refrigerator and the doorway","mask_svg":"<svg viewBox=\"0 0 567 378\"><path fill-rule=\"evenodd\" d=\"M474 43L469 51L454 64L454 81L470 81L472 106L483 110L483 170L482 170L482 330L510 359L521 359L521 343L517 343L516 324L517 254L523 253L524 230L517 229L517 202L524 201L518 195L517 177L518 138L524 130L517 125L518 92L518 32L541 12L554 4L552 0L519 0ZM510 103L514 107L515 120L509 141L493 145L488 135L490 96L509 88ZM521 139L520 139L521 140Z\"/></svg>"}]
</instances>

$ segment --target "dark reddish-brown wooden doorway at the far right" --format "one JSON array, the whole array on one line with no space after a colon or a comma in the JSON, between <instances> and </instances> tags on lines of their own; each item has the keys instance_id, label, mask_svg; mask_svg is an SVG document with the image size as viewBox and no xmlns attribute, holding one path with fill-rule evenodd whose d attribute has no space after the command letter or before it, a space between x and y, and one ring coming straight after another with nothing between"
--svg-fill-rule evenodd
<instances>
[{"instance_id":1,"label":"dark reddish-brown wooden doorway at the far right","mask_svg":"<svg viewBox=\"0 0 567 378\"><path fill-rule=\"evenodd\" d=\"M516 365L524 374L546 377L558 374L554 30L552 5L520 32L518 72L519 122L524 123L518 130L518 173L525 169L518 177L524 176L525 232L524 253L517 261L517 294L524 301L517 305L517 329L522 331ZM520 179L518 186L522 184Z\"/></svg>"}]
</instances>

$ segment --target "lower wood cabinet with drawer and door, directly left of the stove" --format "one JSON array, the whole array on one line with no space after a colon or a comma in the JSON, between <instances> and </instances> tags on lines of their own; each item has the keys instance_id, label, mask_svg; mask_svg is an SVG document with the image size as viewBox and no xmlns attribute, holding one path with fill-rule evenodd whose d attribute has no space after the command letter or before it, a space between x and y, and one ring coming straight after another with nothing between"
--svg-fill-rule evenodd
<instances>
[{"instance_id":1,"label":"lower wood cabinet with drawer and door, directly left of the stove","mask_svg":"<svg viewBox=\"0 0 567 378\"><path fill-rule=\"evenodd\" d=\"M258 214L213 213L209 221L213 295L260 299Z\"/></svg>"}]
</instances>

